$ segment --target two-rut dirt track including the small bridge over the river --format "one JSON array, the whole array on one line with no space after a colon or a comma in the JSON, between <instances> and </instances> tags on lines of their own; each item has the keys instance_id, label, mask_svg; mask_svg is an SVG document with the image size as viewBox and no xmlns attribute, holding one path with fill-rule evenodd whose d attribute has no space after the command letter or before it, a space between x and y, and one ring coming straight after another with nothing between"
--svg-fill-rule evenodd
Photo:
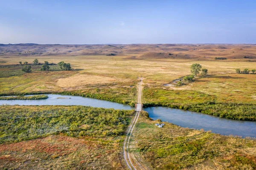
<instances>
[{"instance_id":1,"label":"two-rut dirt track including the small bridge over the river","mask_svg":"<svg viewBox=\"0 0 256 170\"><path fill-rule=\"evenodd\" d=\"M129 141L131 138L131 134L134 130L135 124L137 123L137 120L140 116L140 112L142 110L142 104L141 104L141 84L142 84L143 78L140 78L140 84L139 84L139 90L138 90L138 100L137 100L137 105L136 105L136 115L134 117L134 120L132 121L128 133L126 135L125 141L124 141L124 146L123 146L123 151L124 151L124 158L125 158L125 163L127 164L128 168L130 170L137 170L138 169L143 169L143 166L140 165L139 162L136 161L136 165L134 162L131 160L129 157L128 149L129 149Z\"/></svg>"}]
</instances>

